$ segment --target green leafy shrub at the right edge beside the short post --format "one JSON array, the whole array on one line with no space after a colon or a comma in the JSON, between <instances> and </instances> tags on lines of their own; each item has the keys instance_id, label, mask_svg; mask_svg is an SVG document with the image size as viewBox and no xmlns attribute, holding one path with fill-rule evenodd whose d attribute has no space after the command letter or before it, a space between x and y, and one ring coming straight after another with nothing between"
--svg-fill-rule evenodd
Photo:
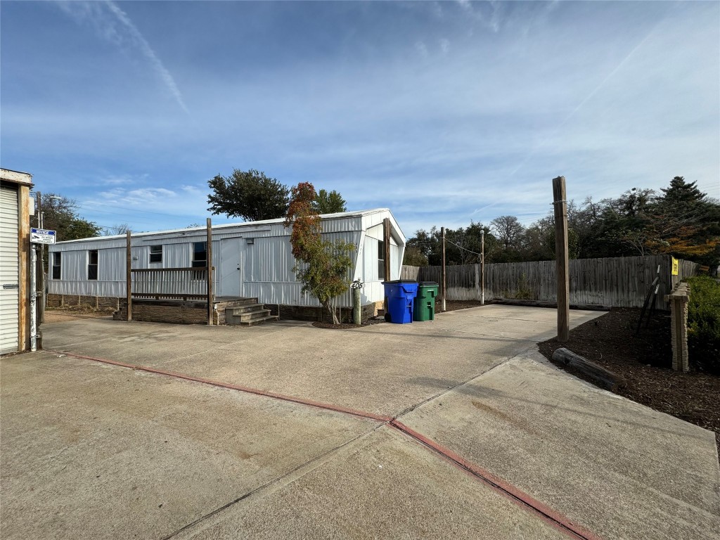
<instances>
[{"instance_id":1,"label":"green leafy shrub at the right edge beside the short post","mask_svg":"<svg viewBox=\"0 0 720 540\"><path fill-rule=\"evenodd\" d=\"M720 374L720 282L710 276L688 279L688 349L690 362Z\"/></svg>"}]
</instances>

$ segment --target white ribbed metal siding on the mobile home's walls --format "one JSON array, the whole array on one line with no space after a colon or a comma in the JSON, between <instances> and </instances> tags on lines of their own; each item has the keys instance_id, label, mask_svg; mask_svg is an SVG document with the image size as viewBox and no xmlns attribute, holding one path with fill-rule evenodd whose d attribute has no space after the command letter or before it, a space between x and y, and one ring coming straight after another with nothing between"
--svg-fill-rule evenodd
<instances>
[{"instance_id":1,"label":"white ribbed metal siding on the mobile home's walls","mask_svg":"<svg viewBox=\"0 0 720 540\"><path fill-rule=\"evenodd\" d=\"M342 239L354 243L358 251L353 253L353 266L348 279L360 278L366 283L363 289L363 302L376 302L383 298L383 288L377 276L377 240L382 239L382 219L390 215L387 210L373 211L368 216L351 215L333 217L323 220L323 238L328 240ZM395 220L391 224L395 227ZM366 222L366 218L369 220ZM369 225L371 229L363 231ZM400 238L404 246L404 238L399 229L393 230L391 239L391 276L398 279L402 255L398 258L396 238ZM270 222L264 225L233 225L222 226L212 230L212 265L215 266L215 291L225 294L224 290L238 290L232 286L223 287L221 280L222 253L221 246L230 246L229 238L236 238L240 243L237 266L240 267L240 296L257 297L268 304L312 305L318 300L310 294L302 294L302 285L295 279L292 271L294 258L289 243L290 229L284 228L282 222ZM375 238L372 238L375 237ZM207 238L205 230L186 230L174 233L156 233L134 236L132 243L132 268L180 268L192 264L192 243L202 242ZM247 239L253 238L248 244ZM362 240L361 240L362 238ZM222 240L225 240L223 242ZM50 251L63 252L63 270L61 280L51 280L50 292L57 294L80 294L88 296L125 296L125 238L94 238L58 243L50 247ZM361 245L362 242L362 245ZM150 246L163 246L163 261L150 264ZM87 280L87 251L98 250L99 269L97 281ZM233 247L237 253L238 248ZM227 255L227 254L226 254ZM397 266L397 268L396 268ZM232 261L225 261L225 268L233 269ZM238 279L238 274L228 271L231 279ZM351 294L341 297L340 305L351 305Z\"/></svg>"}]
</instances>

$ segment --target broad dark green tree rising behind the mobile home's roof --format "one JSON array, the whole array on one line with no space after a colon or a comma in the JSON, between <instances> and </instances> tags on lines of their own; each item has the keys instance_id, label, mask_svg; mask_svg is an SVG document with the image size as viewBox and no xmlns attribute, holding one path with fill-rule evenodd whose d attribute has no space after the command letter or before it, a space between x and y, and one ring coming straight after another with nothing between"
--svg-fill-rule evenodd
<instances>
[{"instance_id":1,"label":"broad dark green tree rising behind the mobile home's roof","mask_svg":"<svg viewBox=\"0 0 720 540\"><path fill-rule=\"evenodd\" d=\"M290 190L265 173L250 169L233 170L230 176L218 174L207 182L212 193L207 202L214 215L242 217L246 221L273 220L287 214Z\"/></svg>"}]
</instances>

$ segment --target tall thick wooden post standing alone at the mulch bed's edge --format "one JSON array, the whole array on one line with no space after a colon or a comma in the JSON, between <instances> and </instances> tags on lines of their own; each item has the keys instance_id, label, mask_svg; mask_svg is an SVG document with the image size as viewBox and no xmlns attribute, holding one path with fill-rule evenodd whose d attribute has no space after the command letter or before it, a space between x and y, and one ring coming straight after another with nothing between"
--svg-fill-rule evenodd
<instances>
[{"instance_id":1,"label":"tall thick wooden post standing alone at the mulch bed's edge","mask_svg":"<svg viewBox=\"0 0 720 540\"><path fill-rule=\"evenodd\" d=\"M570 339L570 281L567 271L567 199L565 177L552 180L555 211L555 274L557 276L557 341Z\"/></svg>"}]
</instances>

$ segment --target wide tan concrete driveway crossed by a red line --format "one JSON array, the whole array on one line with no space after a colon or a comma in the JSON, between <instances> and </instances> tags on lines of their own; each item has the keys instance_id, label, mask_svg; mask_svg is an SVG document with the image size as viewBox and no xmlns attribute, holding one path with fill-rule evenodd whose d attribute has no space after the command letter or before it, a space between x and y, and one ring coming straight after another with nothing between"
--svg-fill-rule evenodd
<instances>
[{"instance_id":1,"label":"wide tan concrete driveway crossed by a red line","mask_svg":"<svg viewBox=\"0 0 720 540\"><path fill-rule=\"evenodd\" d=\"M0 536L720 538L713 434L554 369L554 325L45 325L0 361Z\"/></svg>"}]
</instances>

